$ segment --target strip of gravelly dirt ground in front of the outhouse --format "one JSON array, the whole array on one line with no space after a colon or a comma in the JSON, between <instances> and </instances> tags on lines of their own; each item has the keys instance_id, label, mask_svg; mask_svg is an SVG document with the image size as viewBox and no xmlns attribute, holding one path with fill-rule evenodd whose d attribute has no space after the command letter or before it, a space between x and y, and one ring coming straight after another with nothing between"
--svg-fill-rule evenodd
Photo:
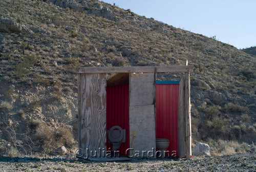
<instances>
[{"instance_id":1,"label":"strip of gravelly dirt ground in front of the outhouse","mask_svg":"<svg viewBox=\"0 0 256 172\"><path fill-rule=\"evenodd\" d=\"M75 157L0 157L0 171L256 171L256 154L96 162Z\"/></svg>"}]
</instances>

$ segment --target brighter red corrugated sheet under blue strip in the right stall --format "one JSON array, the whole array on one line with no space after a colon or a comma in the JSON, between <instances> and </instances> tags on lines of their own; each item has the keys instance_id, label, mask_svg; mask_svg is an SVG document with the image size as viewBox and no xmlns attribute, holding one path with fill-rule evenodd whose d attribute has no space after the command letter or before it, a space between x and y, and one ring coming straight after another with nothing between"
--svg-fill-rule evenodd
<instances>
[{"instance_id":1,"label":"brighter red corrugated sheet under blue strip in the right stall","mask_svg":"<svg viewBox=\"0 0 256 172\"><path fill-rule=\"evenodd\" d=\"M157 84L157 139L167 138L170 141L168 156L179 157L178 145L178 102L179 84ZM167 155L166 155L167 156Z\"/></svg>"}]
</instances>

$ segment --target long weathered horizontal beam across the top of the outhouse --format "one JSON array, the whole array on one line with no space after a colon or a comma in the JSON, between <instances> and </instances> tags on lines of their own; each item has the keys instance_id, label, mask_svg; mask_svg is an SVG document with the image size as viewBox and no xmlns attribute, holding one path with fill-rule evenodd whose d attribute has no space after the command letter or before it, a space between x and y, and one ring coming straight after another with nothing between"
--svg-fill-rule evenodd
<instances>
[{"instance_id":1,"label":"long weathered horizontal beam across the top of the outhouse","mask_svg":"<svg viewBox=\"0 0 256 172\"><path fill-rule=\"evenodd\" d=\"M163 73L193 72L193 66L84 67L77 73Z\"/></svg>"}]
</instances>

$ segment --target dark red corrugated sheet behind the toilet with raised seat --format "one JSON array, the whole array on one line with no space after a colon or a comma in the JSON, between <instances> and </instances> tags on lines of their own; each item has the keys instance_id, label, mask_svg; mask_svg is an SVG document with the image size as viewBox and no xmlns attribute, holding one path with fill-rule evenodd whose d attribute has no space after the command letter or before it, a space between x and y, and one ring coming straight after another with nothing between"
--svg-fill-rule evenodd
<instances>
[{"instance_id":1,"label":"dark red corrugated sheet behind the toilet with raised seat","mask_svg":"<svg viewBox=\"0 0 256 172\"><path fill-rule=\"evenodd\" d=\"M126 142L121 143L119 149L120 154L125 155L125 150L130 147L129 84L106 88L106 130L114 125L126 130ZM106 141L108 150L112 149L108 139Z\"/></svg>"}]
</instances>

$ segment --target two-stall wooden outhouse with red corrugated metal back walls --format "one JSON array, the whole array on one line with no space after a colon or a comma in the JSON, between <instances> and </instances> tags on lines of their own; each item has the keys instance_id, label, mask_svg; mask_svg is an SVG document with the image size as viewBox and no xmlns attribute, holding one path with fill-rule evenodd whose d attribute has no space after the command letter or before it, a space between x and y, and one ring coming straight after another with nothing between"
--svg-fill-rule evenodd
<instances>
[{"instance_id":1,"label":"two-stall wooden outhouse with red corrugated metal back walls","mask_svg":"<svg viewBox=\"0 0 256 172\"><path fill-rule=\"evenodd\" d=\"M179 81L157 73L181 72ZM191 157L190 80L193 66L86 67L78 73L78 143L83 157L157 157L157 139L168 139L168 157ZM107 78L108 73L116 73ZM122 139L110 139L113 128ZM120 129L119 129L120 128ZM113 132L114 133L114 132ZM119 133L118 133L119 134ZM114 135L115 137L115 135ZM113 156L113 155L111 155Z\"/></svg>"}]
</instances>

